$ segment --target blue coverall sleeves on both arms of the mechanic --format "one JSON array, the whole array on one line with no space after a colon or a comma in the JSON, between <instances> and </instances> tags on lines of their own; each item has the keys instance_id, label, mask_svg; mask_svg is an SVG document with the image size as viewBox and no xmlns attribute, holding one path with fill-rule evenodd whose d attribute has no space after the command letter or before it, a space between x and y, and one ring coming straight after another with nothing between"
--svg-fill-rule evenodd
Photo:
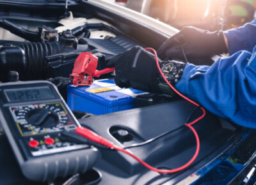
<instances>
[{"instance_id":1,"label":"blue coverall sleeves on both arms of the mechanic","mask_svg":"<svg viewBox=\"0 0 256 185\"><path fill-rule=\"evenodd\" d=\"M256 128L256 19L225 35L230 57L212 66L186 64L175 87L213 114Z\"/></svg>"}]
</instances>

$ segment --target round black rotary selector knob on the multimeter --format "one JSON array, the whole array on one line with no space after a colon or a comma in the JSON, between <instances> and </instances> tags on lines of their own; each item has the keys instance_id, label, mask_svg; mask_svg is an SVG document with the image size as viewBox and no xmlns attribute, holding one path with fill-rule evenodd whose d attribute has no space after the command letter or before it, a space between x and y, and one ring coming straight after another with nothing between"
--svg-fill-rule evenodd
<instances>
[{"instance_id":1,"label":"round black rotary selector knob on the multimeter","mask_svg":"<svg viewBox=\"0 0 256 185\"><path fill-rule=\"evenodd\" d=\"M35 108L30 110L26 115L26 119L29 124L45 128L56 126L59 122L58 114L46 108Z\"/></svg>"}]
</instances>

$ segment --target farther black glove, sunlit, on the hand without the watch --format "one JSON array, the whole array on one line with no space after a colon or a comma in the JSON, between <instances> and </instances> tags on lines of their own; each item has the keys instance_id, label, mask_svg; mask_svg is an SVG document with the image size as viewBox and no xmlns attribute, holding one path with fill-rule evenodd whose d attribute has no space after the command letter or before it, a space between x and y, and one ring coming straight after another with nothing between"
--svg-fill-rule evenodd
<instances>
[{"instance_id":1,"label":"farther black glove, sunlit, on the hand without the watch","mask_svg":"<svg viewBox=\"0 0 256 185\"><path fill-rule=\"evenodd\" d=\"M210 58L228 52L222 31L207 31L196 27L184 27L157 51L162 60L184 59L182 48L188 59Z\"/></svg>"}]
</instances>

